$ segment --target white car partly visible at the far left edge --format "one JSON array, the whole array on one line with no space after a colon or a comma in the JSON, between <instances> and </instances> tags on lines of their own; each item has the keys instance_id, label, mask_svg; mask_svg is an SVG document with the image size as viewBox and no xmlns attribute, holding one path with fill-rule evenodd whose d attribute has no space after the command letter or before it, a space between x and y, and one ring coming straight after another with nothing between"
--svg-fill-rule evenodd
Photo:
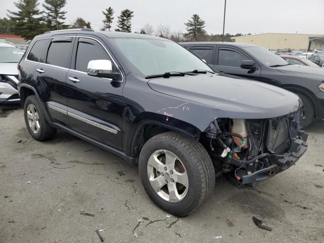
<instances>
[{"instance_id":1,"label":"white car partly visible at the far left edge","mask_svg":"<svg viewBox=\"0 0 324 243\"><path fill-rule=\"evenodd\" d=\"M14 45L0 42L0 104L20 102L17 64L23 54Z\"/></svg>"}]
</instances>

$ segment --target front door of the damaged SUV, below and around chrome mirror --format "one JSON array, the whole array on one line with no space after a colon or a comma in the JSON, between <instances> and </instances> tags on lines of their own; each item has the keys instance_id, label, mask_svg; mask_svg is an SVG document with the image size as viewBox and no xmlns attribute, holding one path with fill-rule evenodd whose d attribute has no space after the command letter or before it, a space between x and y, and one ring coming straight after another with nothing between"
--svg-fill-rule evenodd
<instances>
[{"instance_id":1,"label":"front door of the damaged SUV, below and around chrome mirror","mask_svg":"<svg viewBox=\"0 0 324 243\"><path fill-rule=\"evenodd\" d=\"M120 101L125 82L88 75L89 61L102 59L110 60L113 71L119 71L99 39L76 39L72 66L67 73L69 122L74 131L121 150L123 106Z\"/></svg>"}]
</instances>

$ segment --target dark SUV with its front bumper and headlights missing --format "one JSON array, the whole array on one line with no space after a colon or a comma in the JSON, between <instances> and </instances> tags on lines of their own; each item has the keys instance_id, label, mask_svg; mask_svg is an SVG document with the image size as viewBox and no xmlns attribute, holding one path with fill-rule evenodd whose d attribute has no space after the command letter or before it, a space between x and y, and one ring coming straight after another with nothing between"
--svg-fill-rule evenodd
<instances>
[{"instance_id":1,"label":"dark SUV with its front bumper and headlights missing","mask_svg":"<svg viewBox=\"0 0 324 243\"><path fill-rule=\"evenodd\" d=\"M214 73L168 39L89 29L36 36L18 65L27 129L62 129L139 165L154 203L192 213L227 174L255 185L306 151L301 102Z\"/></svg>"}]
</instances>

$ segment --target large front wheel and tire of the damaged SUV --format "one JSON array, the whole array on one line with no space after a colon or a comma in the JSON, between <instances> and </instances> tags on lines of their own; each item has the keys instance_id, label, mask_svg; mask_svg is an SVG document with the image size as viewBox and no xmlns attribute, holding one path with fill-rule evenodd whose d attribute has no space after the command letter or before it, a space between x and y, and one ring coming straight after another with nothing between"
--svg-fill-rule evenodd
<instances>
[{"instance_id":1,"label":"large front wheel and tire of the damaged SUV","mask_svg":"<svg viewBox=\"0 0 324 243\"><path fill-rule=\"evenodd\" d=\"M175 161L173 167L172 161ZM215 186L214 166L203 145L174 132L158 134L144 144L139 156L139 174L153 203L180 217L193 213ZM151 184L157 181L160 181L158 186ZM178 194L172 193L172 188Z\"/></svg>"}]
</instances>

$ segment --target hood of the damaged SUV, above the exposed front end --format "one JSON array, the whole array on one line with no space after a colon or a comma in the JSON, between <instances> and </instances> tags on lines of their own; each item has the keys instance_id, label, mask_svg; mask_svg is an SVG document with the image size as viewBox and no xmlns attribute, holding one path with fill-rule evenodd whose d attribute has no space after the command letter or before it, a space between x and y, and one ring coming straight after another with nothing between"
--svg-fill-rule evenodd
<instances>
[{"instance_id":1,"label":"hood of the damaged SUV, above the exposed front end","mask_svg":"<svg viewBox=\"0 0 324 243\"><path fill-rule=\"evenodd\" d=\"M151 89L217 110L217 117L271 118L299 109L298 96L284 89L229 76L203 74L150 79Z\"/></svg>"}]
</instances>

